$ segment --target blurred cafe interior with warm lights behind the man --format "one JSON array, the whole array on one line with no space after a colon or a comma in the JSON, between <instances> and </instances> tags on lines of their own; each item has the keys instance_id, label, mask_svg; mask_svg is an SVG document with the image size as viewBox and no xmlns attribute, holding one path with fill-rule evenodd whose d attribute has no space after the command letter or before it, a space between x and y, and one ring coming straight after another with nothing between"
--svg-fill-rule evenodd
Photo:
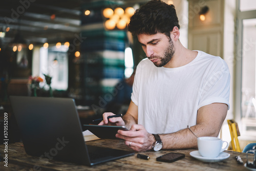
<instances>
[{"instance_id":1,"label":"blurred cafe interior with warm lights behind the man","mask_svg":"<svg viewBox=\"0 0 256 171\"><path fill-rule=\"evenodd\" d=\"M146 2L0 3L0 119L3 123L4 113L9 114L9 143L20 141L10 96L73 98L81 124L89 124L104 112L126 112L136 66L146 58L127 24ZM230 109L219 136L242 151L256 142L256 2L164 2L176 8L184 47L226 61L231 76ZM120 81L128 82L121 100L115 99ZM230 120L237 123L240 136L234 137L238 141L231 139ZM236 151L231 143L229 149Z\"/></svg>"}]
</instances>

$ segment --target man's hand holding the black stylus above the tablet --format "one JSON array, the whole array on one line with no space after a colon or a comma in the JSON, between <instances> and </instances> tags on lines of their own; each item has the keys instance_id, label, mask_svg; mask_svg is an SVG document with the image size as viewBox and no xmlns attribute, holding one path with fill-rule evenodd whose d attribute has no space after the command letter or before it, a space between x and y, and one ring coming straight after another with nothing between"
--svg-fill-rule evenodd
<instances>
[{"instance_id":1,"label":"man's hand holding the black stylus above the tablet","mask_svg":"<svg viewBox=\"0 0 256 171\"><path fill-rule=\"evenodd\" d=\"M108 116L115 115L111 112L106 112L103 113L102 117L103 120L98 124L98 125L115 125L115 126L124 126L125 123L121 117L116 117L116 118L109 118Z\"/></svg>"}]
</instances>

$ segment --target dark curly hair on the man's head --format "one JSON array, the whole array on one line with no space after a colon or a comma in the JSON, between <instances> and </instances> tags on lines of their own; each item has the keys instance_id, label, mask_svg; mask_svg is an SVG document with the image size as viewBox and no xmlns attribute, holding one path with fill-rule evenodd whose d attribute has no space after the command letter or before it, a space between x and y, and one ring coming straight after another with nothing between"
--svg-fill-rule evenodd
<instances>
[{"instance_id":1,"label":"dark curly hair on the man's head","mask_svg":"<svg viewBox=\"0 0 256 171\"><path fill-rule=\"evenodd\" d=\"M170 35L173 28L180 29L174 5L153 0L137 9L131 17L128 30L132 35L164 33Z\"/></svg>"}]
</instances>

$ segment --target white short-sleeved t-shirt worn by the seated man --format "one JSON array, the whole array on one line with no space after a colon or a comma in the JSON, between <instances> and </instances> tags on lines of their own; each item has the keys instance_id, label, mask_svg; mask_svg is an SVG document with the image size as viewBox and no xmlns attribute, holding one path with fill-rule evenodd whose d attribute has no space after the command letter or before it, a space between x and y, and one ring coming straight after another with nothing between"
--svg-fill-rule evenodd
<instances>
[{"instance_id":1,"label":"white short-sleeved t-shirt worn by the seated man","mask_svg":"<svg viewBox=\"0 0 256 171\"><path fill-rule=\"evenodd\" d=\"M158 68L143 59L136 69L132 101L138 106L138 124L152 134L167 134L197 123L197 111L211 103L229 109L230 74L226 62L198 51L178 68Z\"/></svg>"}]
</instances>

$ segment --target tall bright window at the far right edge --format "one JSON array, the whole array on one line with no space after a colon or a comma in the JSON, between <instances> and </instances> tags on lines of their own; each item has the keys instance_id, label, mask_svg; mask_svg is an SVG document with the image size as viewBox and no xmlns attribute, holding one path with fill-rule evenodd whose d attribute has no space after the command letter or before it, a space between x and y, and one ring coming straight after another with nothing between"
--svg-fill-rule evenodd
<instances>
[{"instance_id":1,"label":"tall bright window at the far right edge","mask_svg":"<svg viewBox=\"0 0 256 171\"><path fill-rule=\"evenodd\" d=\"M237 52L235 56L235 119L240 123L241 135L247 139L256 139L256 1L250 1L249 3L249 0L243 0L239 2L239 5L240 10L237 10ZM254 7L254 9L250 7Z\"/></svg>"}]
</instances>

